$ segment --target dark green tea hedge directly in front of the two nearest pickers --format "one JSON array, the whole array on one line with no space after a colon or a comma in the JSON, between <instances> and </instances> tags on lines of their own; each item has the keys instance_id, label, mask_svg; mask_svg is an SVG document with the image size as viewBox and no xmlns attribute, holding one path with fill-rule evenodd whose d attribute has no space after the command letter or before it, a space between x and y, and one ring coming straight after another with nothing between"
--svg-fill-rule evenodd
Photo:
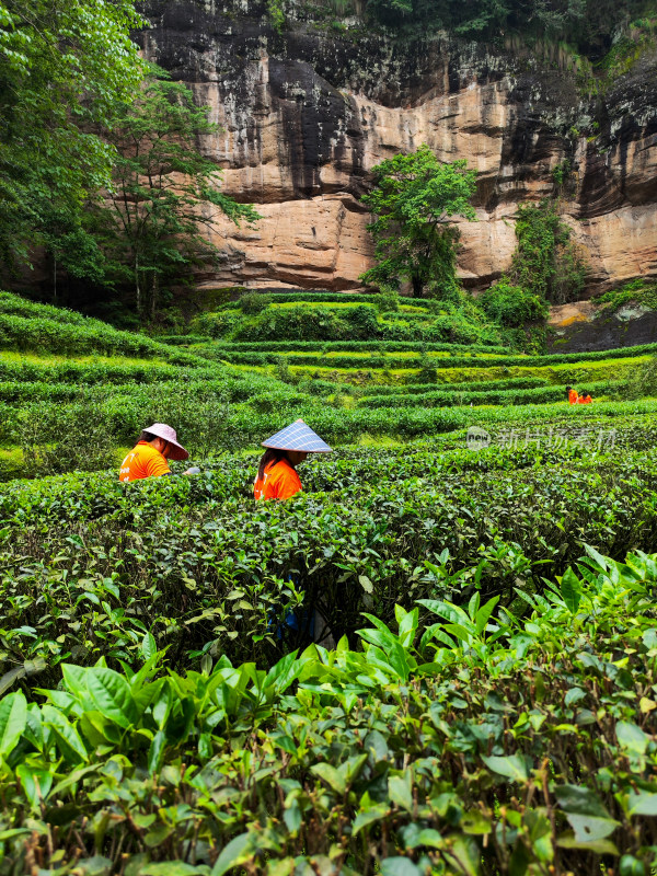
<instances>
[{"instance_id":1,"label":"dark green tea hedge directly in front of the two nearest pickers","mask_svg":"<svg viewBox=\"0 0 657 876\"><path fill-rule=\"evenodd\" d=\"M637 435L645 445L647 433ZM360 612L481 591L522 611L595 544L649 550L657 466L623 449L358 451L303 474L307 495L255 505L254 468L119 484L112 473L14 484L0 505L0 669L134 661L146 632L191 655L272 659L272 616L319 607L354 642ZM292 584L293 579L296 584ZM31 665L31 664L30 664Z\"/></svg>"}]
</instances>

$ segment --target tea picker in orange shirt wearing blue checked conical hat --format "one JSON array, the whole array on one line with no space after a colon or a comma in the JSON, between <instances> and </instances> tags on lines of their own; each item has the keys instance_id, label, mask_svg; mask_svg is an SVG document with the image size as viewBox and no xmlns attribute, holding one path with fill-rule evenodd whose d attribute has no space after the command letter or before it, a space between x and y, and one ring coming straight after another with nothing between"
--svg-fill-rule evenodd
<instances>
[{"instance_id":1,"label":"tea picker in orange shirt wearing blue checked conical hat","mask_svg":"<svg viewBox=\"0 0 657 876\"><path fill-rule=\"evenodd\" d=\"M253 484L256 499L290 499L301 491L297 465L309 453L332 452L328 445L302 419L267 438L263 447L267 449L260 461Z\"/></svg>"}]
</instances>

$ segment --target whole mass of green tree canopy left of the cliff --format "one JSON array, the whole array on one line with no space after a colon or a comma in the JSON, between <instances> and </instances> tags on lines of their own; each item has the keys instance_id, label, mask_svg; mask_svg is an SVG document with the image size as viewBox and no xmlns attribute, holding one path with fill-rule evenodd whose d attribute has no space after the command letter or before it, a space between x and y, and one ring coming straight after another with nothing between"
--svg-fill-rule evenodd
<instances>
[{"instance_id":1,"label":"whole mass of green tree canopy left of the cliff","mask_svg":"<svg viewBox=\"0 0 657 876\"><path fill-rule=\"evenodd\" d=\"M154 315L162 278L217 256L212 207L258 217L198 151L208 107L139 57L145 24L135 0L0 0L0 264L42 247L54 292L62 269L131 285Z\"/></svg>"}]
</instances>

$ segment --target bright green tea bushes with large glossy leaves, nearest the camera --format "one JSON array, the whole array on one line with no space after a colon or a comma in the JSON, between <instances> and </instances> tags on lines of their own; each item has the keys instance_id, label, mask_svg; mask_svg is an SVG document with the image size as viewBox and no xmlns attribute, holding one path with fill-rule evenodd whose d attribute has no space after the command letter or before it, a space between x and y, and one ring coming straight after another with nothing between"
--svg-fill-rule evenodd
<instances>
[{"instance_id":1,"label":"bright green tea bushes with large glossy leaves, nearest the camera","mask_svg":"<svg viewBox=\"0 0 657 876\"><path fill-rule=\"evenodd\" d=\"M657 555L589 554L522 622L429 600L426 626L368 615L362 650L185 676L147 634L137 671L69 664L42 704L7 695L0 867L645 876Z\"/></svg>"}]
</instances>

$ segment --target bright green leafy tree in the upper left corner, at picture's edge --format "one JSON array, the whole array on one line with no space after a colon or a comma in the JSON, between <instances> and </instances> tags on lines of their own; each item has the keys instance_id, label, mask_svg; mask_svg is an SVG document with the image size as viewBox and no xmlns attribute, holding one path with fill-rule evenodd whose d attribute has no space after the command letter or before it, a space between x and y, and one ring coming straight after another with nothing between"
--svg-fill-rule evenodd
<instances>
[{"instance_id":1,"label":"bright green leafy tree in the upper left corner, at picture's edge","mask_svg":"<svg viewBox=\"0 0 657 876\"><path fill-rule=\"evenodd\" d=\"M132 100L145 67L129 33L142 24L132 0L0 0L5 266L82 233L83 204L108 185L114 157L93 127Z\"/></svg>"}]
</instances>

